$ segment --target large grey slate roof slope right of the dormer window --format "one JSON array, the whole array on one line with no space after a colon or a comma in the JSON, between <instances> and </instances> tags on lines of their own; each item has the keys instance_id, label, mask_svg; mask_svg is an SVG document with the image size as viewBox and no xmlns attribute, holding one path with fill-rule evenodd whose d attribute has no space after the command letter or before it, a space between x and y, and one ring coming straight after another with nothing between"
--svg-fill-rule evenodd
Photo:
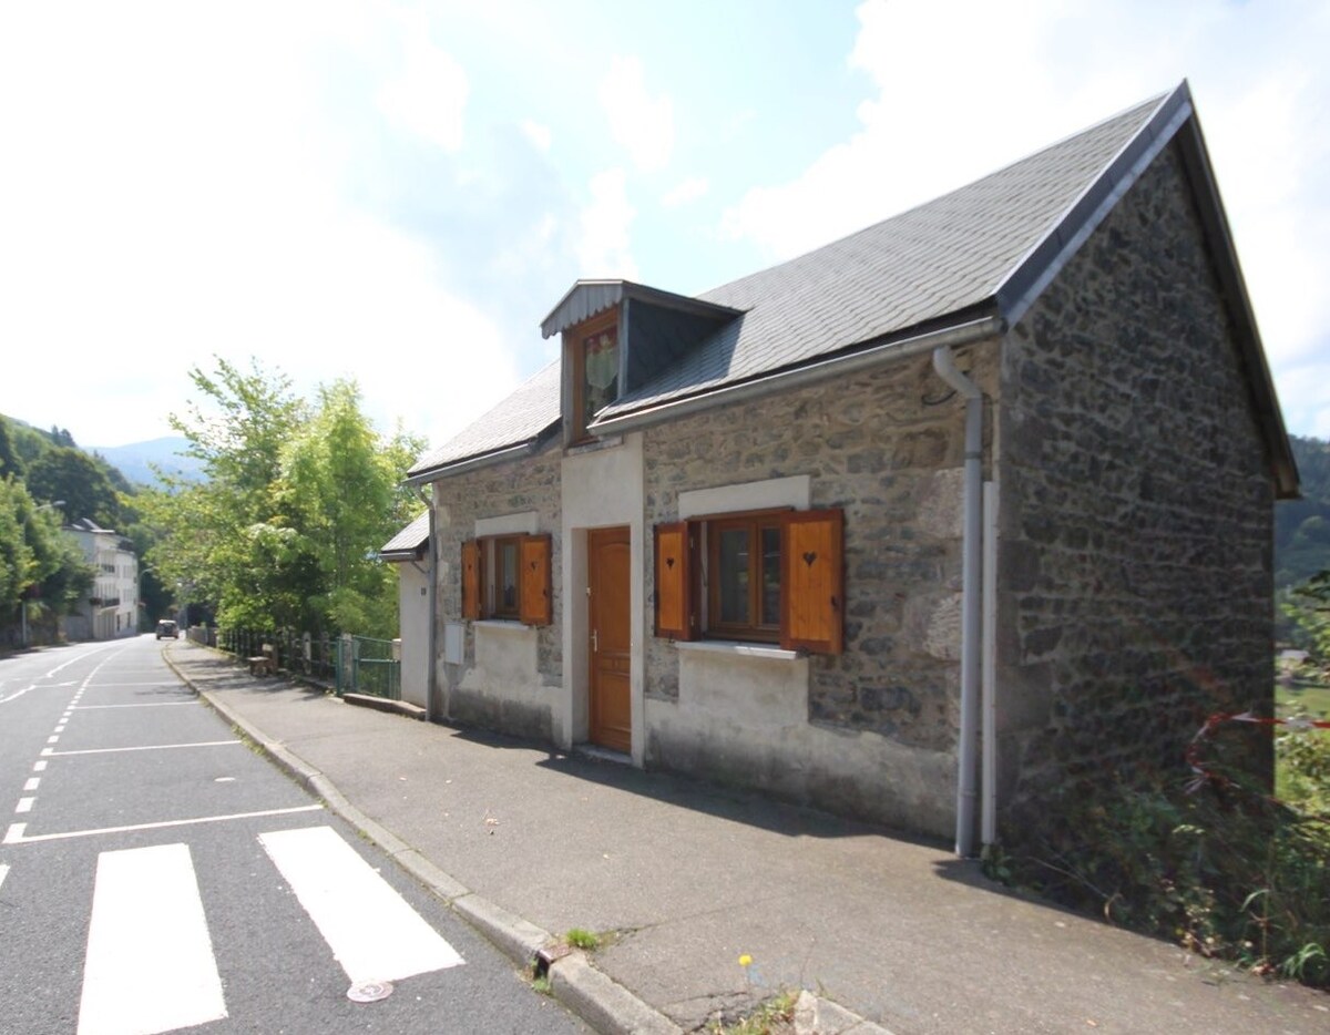
<instances>
[{"instance_id":1,"label":"large grey slate roof slope right of the dormer window","mask_svg":"<svg viewBox=\"0 0 1330 1035\"><path fill-rule=\"evenodd\" d=\"M745 310L605 416L876 342L995 302L1160 108L1154 97L974 184L701 295Z\"/></svg>"}]
</instances>

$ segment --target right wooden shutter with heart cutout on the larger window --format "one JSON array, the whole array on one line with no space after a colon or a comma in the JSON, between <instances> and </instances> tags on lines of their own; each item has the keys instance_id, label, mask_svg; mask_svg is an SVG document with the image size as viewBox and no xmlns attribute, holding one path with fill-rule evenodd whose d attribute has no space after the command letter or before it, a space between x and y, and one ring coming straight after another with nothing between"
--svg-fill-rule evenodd
<instances>
[{"instance_id":1,"label":"right wooden shutter with heart cutout on the larger window","mask_svg":"<svg viewBox=\"0 0 1330 1035\"><path fill-rule=\"evenodd\" d=\"M843 557L843 511L794 511L786 518L781 647L819 655L845 648Z\"/></svg>"}]
</instances>

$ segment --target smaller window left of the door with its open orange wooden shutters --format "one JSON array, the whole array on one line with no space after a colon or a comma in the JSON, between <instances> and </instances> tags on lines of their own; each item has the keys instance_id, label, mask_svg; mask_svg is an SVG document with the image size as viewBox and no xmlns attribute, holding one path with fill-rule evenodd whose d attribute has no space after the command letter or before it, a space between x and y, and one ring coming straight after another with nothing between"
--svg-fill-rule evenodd
<instances>
[{"instance_id":1,"label":"smaller window left of the door with its open orange wooden shutters","mask_svg":"<svg viewBox=\"0 0 1330 1035\"><path fill-rule=\"evenodd\" d=\"M549 625L551 543L548 535L503 535L462 544L462 616Z\"/></svg>"}]
</instances>

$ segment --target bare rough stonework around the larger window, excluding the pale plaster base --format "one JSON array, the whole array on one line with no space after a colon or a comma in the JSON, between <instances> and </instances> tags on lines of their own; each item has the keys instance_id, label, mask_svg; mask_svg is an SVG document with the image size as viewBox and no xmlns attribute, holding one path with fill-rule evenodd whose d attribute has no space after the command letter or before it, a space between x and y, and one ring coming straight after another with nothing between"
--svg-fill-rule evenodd
<instances>
[{"instance_id":1,"label":"bare rough stonework around the larger window, excluding the pale plaster base","mask_svg":"<svg viewBox=\"0 0 1330 1035\"><path fill-rule=\"evenodd\" d=\"M994 350L975 363L996 380ZM845 508L846 625L845 653L813 659L809 720L952 750L963 446L964 404L930 361L887 365L649 431L646 523L677 520L685 490L810 475L814 508ZM676 697L677 670L653 637L648 693Z\"/></svg>"}]
</instances>

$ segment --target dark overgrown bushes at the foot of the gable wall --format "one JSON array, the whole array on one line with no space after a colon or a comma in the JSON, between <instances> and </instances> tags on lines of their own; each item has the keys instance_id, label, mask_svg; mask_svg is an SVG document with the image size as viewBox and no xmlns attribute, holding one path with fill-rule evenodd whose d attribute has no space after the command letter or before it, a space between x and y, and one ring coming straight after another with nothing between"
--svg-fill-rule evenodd
<instances>
[{"instance_id":1,"label":"dark overgrown bushes at the foot of the gable wall","mask_svg":"<svg viewBox=\"0 0 1330 1035\"><path fill-rule=\"evenodd\" d=\"M1330 732L1282 732L1277 754L1287 801L1221 762L1186 784L1119 778L1112 794L1065 793L1048 818L1028 817L1021 847L991 853L986 871L1202 955L1330 987Z\"/></svg>"}]
</instances>

